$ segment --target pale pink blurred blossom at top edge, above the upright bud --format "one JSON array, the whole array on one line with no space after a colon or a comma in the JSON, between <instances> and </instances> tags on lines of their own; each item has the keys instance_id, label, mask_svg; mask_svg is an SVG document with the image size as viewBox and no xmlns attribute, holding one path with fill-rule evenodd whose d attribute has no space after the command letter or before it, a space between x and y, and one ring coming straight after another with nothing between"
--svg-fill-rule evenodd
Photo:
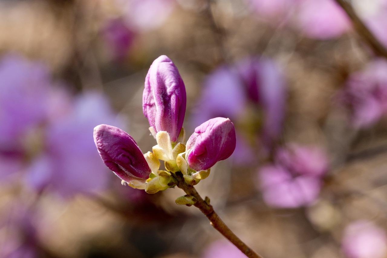
<instances>
[{"instance_id":1,"label":"pale pink blurred blossom at top edge, above the upright bud","mask_svg":"<svg viewBox=\"0 0 387 258\"><path fill-rule=\"evenodd\" d=\"M161 26L175 8L174 0L116 0L123 19L135 31Z\"/></svg>"}]
</instances>

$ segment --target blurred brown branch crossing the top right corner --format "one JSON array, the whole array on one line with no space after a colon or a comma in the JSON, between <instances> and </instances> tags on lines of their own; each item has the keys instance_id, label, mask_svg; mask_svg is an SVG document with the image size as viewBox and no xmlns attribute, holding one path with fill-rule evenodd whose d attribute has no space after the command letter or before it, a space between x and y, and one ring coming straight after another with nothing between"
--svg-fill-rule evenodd
<instances>
[{"instance_id":1,"label":"blurred brown branch crossing the top right corner","mask_svg":"<svg viewBox=\"0 0 387 258\"><path fill-rule=\"evenodd\" d=\"M363 40L373 49L376 55L387 58L387 50L380 43L380 41L373 35L373 33L365 26L364 22L361 21L359 16L356 14L351 3L347 0L335 0L344 11L347 13L349 19L356 32L363 38Z\"/></svg>"}]
</instances>

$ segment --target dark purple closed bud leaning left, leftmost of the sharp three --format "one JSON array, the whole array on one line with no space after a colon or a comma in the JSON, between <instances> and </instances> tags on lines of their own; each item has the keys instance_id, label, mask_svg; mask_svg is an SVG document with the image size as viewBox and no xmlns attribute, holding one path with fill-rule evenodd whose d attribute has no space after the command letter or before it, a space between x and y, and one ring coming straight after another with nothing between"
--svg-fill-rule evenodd
<instances>
[{"instance_id":1,"label":"dark purple closed bud leaning left, leftmost of the sharp three","mask_svg":"<svg viewBox=\"0 0 387 258\"><path fill-rule=\"evenodd\" d=\"M127 132L101 124L94 128L94 142L105 165L126 182L144 182L151 169L139 146Z\"/></svg>"}]
</instances>

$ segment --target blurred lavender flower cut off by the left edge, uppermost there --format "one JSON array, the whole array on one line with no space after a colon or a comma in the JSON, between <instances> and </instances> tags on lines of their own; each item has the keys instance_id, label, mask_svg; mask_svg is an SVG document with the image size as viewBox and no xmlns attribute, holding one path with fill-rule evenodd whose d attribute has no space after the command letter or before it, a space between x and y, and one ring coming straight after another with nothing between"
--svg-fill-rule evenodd
<instances>
[{"instance_id":1,"label":"blurred lavender flower cut off by the left edge, uppermost there","mask_svg":"<svg viewBox=\"0 0 387 258\"><path fill-rule=\"evenodd\" d=\"M51 86L47 68L18 55L0 61L0 152L20 152L21 136L45 122Z\"/></svg>"}]
</instances>

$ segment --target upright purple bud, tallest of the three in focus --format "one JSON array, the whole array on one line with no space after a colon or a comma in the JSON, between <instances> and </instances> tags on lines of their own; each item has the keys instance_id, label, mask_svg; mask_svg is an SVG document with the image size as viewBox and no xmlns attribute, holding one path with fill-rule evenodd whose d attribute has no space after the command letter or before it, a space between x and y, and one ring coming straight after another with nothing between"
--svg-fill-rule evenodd
<instances>
[{"instance_id":1,"label":"upright purple bud, tallest of the three in focus","mask_svg":"<svg viewBox=\"0 0 387 258\"><path fill-rule=\"evenodd\" d=\"M145 78L142 110L157 133L166 131L176 142L183 126L187 97L179 71L165 55L153 61Z\"/></svg>"}]
</instances>

